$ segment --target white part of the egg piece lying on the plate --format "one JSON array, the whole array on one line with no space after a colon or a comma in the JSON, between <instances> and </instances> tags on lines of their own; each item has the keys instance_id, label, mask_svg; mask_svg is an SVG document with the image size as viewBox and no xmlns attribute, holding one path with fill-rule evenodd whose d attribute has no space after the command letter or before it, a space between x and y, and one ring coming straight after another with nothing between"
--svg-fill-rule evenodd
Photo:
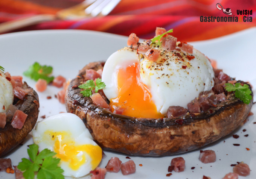
<instances>
[{"instance_id":1,"label":"white part of the egg piece lying on the plate","mask_svg":"<svg viewBox=\"0 0 256 179\"><path fill-rule=\"evenodd\" d=\"M50 149L54 151L54 140L51 140L52 136L50 132L65 132L68 134L69 139L72 140L75 145L91 144L96 146L97 144L92 140L92 136L89 130L85 127L83 121L71 113L60 113L52 115L39 121L35 129L32 130L33 140L35 144L38 144L39 151L43 149ZM47 133L48 132L48 133ZM80 152L79 155L85 155L86 162L79 167L78 170L73 170L69 167L69 162L60 161L60 167L64 170L64 176L81 177L88 174L91 170L91 157L86 152Z\"/></svg>"}]
</instances>

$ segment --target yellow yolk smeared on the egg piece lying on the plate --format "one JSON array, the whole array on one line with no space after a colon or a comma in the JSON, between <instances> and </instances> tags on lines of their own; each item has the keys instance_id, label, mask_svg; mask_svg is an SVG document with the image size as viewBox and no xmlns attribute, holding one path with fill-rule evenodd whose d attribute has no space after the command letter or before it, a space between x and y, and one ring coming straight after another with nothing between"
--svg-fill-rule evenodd
<instances>
[{"instance_id":1,"label":"yellow yolk smeared on the egg piece lying on the plate","mask_svg":"<svg viewBox=\"0 0 256 179\"><path fill-rule=\"evenodd\" d=\"M56 157L63 162L69 162L69 167L72 170L78 170L81 165L88 162L85 153L91 158L91 170L94 170L101 162L102 149L98 145L76 145L70 139L69 133L67 132L52 132L50 136L55 141L53 149L57 153Z\"/></svg>"}]
</instances>

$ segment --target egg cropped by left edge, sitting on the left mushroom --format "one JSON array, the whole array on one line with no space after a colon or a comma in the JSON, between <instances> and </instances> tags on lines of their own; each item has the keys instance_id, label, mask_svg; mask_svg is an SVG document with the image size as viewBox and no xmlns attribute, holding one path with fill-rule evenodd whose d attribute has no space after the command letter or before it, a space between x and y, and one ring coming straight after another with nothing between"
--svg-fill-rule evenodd
<instances>
[{"instance_id":1,"label":"egg cropped by left edge, sitting on the left mushroom","mask_svg":"<svg viewBox=\"0 0 256 179\"><path fill-rule=\"evenodd\" d=\"M3 71L0 70L0 112L6 112L13 99L12 83L6 79Z\"/></svg>"}]
</instances>

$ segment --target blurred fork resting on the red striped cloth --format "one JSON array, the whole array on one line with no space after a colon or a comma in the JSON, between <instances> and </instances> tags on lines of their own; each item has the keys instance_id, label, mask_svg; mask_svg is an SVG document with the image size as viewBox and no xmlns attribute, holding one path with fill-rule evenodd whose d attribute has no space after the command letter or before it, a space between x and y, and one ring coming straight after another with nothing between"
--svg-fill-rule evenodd
<instances>
[{"instance_id":1,"label":"blurred fork resting on the red striped cloth","mask_svg":"<svg viewBox=\"0 0 256 179\"><path fill-rule=\"evenodd\" d=\"M81 19L108 15L121 0L84 0L82 3L58 11L56 15L42 14L32 17L20 18L0 24L0 34L11 30L20 29L43 21L56 19Z\"/></svg>"}]
</instances>

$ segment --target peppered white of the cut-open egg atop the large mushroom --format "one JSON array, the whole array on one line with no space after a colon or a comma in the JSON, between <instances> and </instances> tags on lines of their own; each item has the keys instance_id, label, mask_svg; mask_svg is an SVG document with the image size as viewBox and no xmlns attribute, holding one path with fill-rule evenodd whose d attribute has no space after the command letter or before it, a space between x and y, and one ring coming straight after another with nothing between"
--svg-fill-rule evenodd
<instances>
[{"instance_id":1,"label":"peppered white of the cut-open egg atop the large mushroom","mask_svg":"<svg viewBox=\"0 0 256 179\"><path fill-rule=\"evenodd\" d=\"M197 49L193 49L193 54L182 50L160 50L162 52L157 61L150 61L146 56L141 58L136 50L128 47L114 52L107 59L102 72L102 81L106 84L104 93L107 98L118 97L117 70L126 68L127 64L134 62L140 64L141 81L148 86L157 112L162 114L166 114L169 106L187 108L187 103L200 92L212 89L214 72L210 61L203 53ZM187 55L193 55L195 58L189 60Z\"/></svg>"}]
</instances>

